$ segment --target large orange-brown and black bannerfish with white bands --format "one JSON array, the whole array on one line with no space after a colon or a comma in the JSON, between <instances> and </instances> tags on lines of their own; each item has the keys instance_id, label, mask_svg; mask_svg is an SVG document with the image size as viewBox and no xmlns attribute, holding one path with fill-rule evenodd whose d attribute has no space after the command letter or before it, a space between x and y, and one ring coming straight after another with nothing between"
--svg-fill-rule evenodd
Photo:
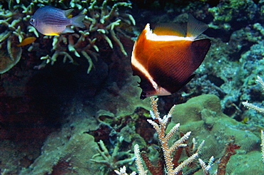
<instances>
[{"instance_id":1,"label":"large orange-brown and black bannerfish with white bands","mask_svg":"<svg viewBox=\"0 0 264 175\"><path fill-rule=\"evenodd\" d=\"M208 26L189 15L187 28L176 24L147 24L133 46L133 75L141 78L141 99L171 95L192 78L210 48L208 38L196 39Z\"/></svg>"}]
</instances>

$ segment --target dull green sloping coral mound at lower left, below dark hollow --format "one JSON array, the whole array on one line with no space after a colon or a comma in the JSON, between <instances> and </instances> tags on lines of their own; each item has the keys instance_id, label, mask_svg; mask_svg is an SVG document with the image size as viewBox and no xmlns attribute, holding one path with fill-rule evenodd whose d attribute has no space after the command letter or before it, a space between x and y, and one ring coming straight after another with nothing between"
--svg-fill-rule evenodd
<instances>
[{"instance_id":1,"label":"dull green sloping coral mound at lower left, below dark hollow","mask_svg":"<svg viewBox=\"0 0 264 175\"><path fill-rule=\"evenodd\" d=\"M72 122L65 123L61 130L51 133L41 147L39 157L16 174L98 174L100 164L93 164L90 160L97 153L98 144L94 142L93 136L83 132L94 129L96 120L83 115L76 114L74 121L69 117L68 120Z\"/></svg>"}]
</instances>

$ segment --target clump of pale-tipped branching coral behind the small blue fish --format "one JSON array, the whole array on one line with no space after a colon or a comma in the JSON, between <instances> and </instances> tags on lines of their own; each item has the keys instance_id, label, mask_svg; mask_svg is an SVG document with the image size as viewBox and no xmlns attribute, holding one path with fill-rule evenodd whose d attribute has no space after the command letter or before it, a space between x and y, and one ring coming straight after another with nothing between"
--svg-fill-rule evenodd
<instances>
[{"instance_id":1,"label":"clump of pale-tipped branching coral behind the small blue fish","mask_svg":"<svg viewBox=\"0 0 264 175\"><path fill-rule=\"evenodd\" d=\"M83 20L86 28L75 28L76 33L61 36L42 36L29 24L29 18L39 6L51 5L58 8L78 9L78 13L86 14ZM104 43L108 43L111 49L117 46L121 53L127 53L118 38L117 34L125 37L120 25L135 25L133 16L126 13L126 9L131 8L128 2L115 1L4 1L0 5L0 49L4 55L9 55L1 61L0 73L5 73L18 63L22 51L25 48L16 46L24 38L39 38L36 42L27 47L27 51L36 51L36 56L44 60L36 68L42 68L46 63L54 64L58 58L68 59L73 63L73 58L83 57L88 61L87 73L93 68L93 61L97 60L99 48ZM120 10L121 9L121 10ZM126 23L126 24L125 24ZM51 42L52 41L52 42ZM49 46L46 46L49 43ZM52 46L51 46L52 43Z\"/></svg>"}]
</instances>

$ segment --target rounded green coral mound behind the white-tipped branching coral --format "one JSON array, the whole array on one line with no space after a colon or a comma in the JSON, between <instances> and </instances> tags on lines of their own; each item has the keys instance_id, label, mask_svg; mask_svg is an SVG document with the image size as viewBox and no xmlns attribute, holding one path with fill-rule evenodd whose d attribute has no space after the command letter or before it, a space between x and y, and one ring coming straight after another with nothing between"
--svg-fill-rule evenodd
<instances>
[{"instance_id":1,"label":"rounded green coral mound behind the white-tipped branching coral","mask_svg":"<svg viewBox=\"0 0 264 175\"><path fill-rule=\"evenodd\" d=\"M255 166L261 164L259 132L255 132L247 125L224 115L221 112L218 97L215 95L193 97L185 104L176 105L174 111L168 129L180 122L181 132L191 131L191 138L204 139L205 144L200 153L201 159L209 159L211 156L215 159L222 157L220 150L225 149L225 144L228 144L230 136L233 136L235 144L240 145L240 149L236 149L237 154L230 157L226 173L248 174L255 172L255 174L263 174L263 169ZM247 164L247 168L243 168L244 166L240 163L242 161ZM238 167L234 169L234 166Z\"/></svg>"}]
</instances>

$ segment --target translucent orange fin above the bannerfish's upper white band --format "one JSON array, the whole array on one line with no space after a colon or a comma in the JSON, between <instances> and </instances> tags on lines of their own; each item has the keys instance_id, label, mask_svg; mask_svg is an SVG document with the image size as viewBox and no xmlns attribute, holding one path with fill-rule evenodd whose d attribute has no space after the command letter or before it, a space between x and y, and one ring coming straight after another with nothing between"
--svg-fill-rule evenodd
<instances>
[{"instance_id":1,"label":"translucent orange fin above the bannerfish's upper white band","mask_svg":"<svg viewBox=\"0 0 264 175\"><path fill-rule=\"evenodd\" d=\"M158 36L186 36L186 31L176 23L161 23L153 30Z\"/></svg>"}]
</instances>

